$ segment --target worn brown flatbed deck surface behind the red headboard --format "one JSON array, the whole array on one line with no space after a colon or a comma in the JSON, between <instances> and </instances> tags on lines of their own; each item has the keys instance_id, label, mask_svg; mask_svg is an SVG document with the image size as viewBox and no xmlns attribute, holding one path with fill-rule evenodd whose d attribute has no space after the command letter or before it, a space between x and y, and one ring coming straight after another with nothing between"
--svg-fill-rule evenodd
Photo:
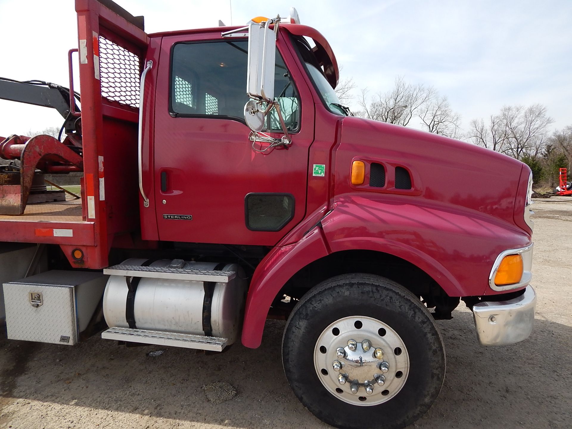
<instances>
[{"instance_id":1,"label":"worn brown flatbed deck surface behind the red headboard","mask_svg":"<svg viewBox=\"0 0 572 429\"><path fill-rule=\"evenodd\" d=\"M0 215L1 221L82 222L81 198L66 195L65 201L28 204L22 215Z\"/></svg>"}]
</instances>

